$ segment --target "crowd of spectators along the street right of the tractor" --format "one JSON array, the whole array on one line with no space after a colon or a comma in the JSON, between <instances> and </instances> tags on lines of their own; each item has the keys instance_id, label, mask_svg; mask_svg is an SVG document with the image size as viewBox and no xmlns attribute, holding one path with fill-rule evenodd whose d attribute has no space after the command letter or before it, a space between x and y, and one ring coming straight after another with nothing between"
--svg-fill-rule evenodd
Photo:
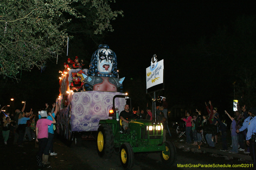
<instances>
[{"instance_id":1,"label":"crowd of spectators along the street right of the tractor","mask_svg":"<svg viewBox=\"0 0 256 170\"><path fill-rule=\"evenodd\" d=\"M237 111L234 114L228 114L225 110L223 112L227 116L224 113L220 116L218 108L213 107L211 101L208 103L209 105L205 102L207 114L204 115L196 109L197 113L194 113L192 116L191 113L186 113L186 116L181 118L181 120L186 122L186 144L205 145L209 148L215 148L215 145L218 145L217 134L220 133L222 143L221 151L230 153L239 153L241 151L246 154L254 153L255 151L253 151L254 148L252 146L255 144L255 140L252 140L252 138L256 135L256 119L253 118L256 114L256 109L253 107L246 108L245 105L241 108L237 104ZM229 119L225 120L227 117ZM231 124L230 137L227 137L227 131L229 130L227 122ZM255 122L255 125L252 126L253 122ZM230 150L228 150L227 138L231 138L232 141ZM246 142L244 139L246 139ZM252 140L251 143L250 139ZM251 155L254 157L254 154Z\"/></svg>"}]
</instances>

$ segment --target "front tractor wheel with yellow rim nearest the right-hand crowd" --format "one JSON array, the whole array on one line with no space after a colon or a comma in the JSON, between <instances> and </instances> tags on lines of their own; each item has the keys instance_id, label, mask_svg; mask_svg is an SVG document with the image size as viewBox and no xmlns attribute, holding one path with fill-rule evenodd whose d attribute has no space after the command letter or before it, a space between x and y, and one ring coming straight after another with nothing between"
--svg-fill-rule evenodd
<instances>
[{"instance_id":1,"label":"front tractor wheel with yellow rim nearest the right-hand crowd","mask_svg":"<svg viewBox=\"0 0 256 170\"><path fill-rule=\"evenodd\" d=\"M167 154L165 154L164 151L160 152L162 162L167 165L172 165L176 161L176 148L174 144L170 141L166 141L164 142L164 144Z\"/></svg>"}]
</instances>

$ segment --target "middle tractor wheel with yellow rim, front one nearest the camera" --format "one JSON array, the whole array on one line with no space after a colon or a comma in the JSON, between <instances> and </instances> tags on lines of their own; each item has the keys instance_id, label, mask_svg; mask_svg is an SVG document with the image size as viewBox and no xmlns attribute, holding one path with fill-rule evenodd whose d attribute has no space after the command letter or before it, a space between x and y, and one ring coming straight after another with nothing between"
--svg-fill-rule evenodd
<instances>
[{"instance_id":1,"label":"middle tractor wheel with yellow rim, front one nearest the camera","mask_svg":"<svg viewBox=\"0 0 256 170\"><path fill-rule=\"evenodd\" d=\"M132 146L128 143L124 143L120 147L120 161L124 168L130 169L134 164L134 154Z\"/></svg>"}]
</instances>

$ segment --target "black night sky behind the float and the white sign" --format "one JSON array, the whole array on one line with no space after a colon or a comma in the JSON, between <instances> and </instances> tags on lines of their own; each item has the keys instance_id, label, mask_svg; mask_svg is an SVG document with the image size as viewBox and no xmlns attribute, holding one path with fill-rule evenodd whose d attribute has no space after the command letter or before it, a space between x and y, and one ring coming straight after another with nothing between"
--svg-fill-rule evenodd
<instances>
[{"instance_id":1,"label":"black night sky behind the float and the white sign","mask_svg":"<svg viewBox=\"0 0 256 170\"><path fill-rule=\"evenodd\" d=\"M117 0L112 9L123 10L124 17L119 16L111 22L115 31L108 32L102 44L108 44L116 53L119 76L126 77L123 83L124 91L135 99L134 106L144 107L141 105L150 100L145 89L146 68L150 66L151 57L156 54L158 61L164 59L165 90L161 95L167 97L170 108L175 105L200 108L204 106L204 101L212 100L214 107L224 111L232 108L232 81L236 80L220 77L226 74L224 72L212 73L209 72L211 70L203 69L205 67L201 67L202 65L212 67L212 60L194 60L195 56L188 52L187 47L198 43L202 37L209 39L225 26L231 26L239 16L255 15L255 8L254 1L241 0ZM74 43L69 47L71 59L77 55L72 46L74 47ZM86 40L84 48L87 53L80 57L87 60L97 49L89 47ZM5 87L8 93L1 95L0 104L7 105L11 96L18 98L18 107L22 107L22 100L30 102L28 107L32 108L43 108L46 102L53 103L59 94L58 70L63 70L63 63L68 58L63 56L57 65L56 61L49 62L42 73L39 70L22 73L26 81L23 79L19 84L15 83L13 89ZM31 89L28 94L17 94L15 90L19 86L19 91L34 88L31 84L37 83L40 83L38 89ZM35 94L36 91L39 93Z\"/></svg>"}]
</instances>

